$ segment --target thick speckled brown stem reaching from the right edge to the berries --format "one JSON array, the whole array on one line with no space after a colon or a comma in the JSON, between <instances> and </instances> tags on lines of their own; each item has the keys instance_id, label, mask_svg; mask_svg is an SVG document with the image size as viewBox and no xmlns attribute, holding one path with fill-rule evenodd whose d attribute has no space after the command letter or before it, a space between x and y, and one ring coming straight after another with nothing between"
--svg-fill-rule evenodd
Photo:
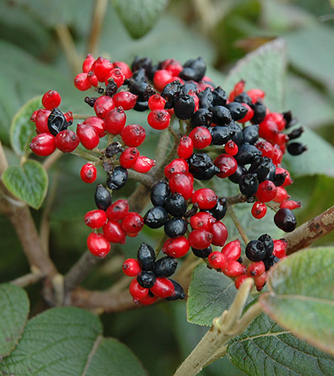
<instances>
[{"instance_id":1,"label":"thick speckled brown stem reaching from the right edge to the berries","mask_svg":"<svg viewBox=\"0 0 334 376\"><path fill-rule=\"evenodd\" d=\"M287 255L307 247L332 230L334 230L334 206L284 236L288 241Z\"/></svg>"}]
</instances>

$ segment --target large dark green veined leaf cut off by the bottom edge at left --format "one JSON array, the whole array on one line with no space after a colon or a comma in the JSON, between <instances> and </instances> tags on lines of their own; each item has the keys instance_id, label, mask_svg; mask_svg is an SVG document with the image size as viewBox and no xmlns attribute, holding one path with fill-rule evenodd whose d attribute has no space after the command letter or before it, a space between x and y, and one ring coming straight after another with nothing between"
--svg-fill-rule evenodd
<instances>
[{"instance_id":1,"label":"large dark green veined leaf cut off by the bottom edge at left","mask_svg":"<svg viewBox=\"0 0 334 376\"><path fill-rule=\"evenodd\" d=\"M103 339L101 333L100 320L88 311L74 307L47 310L28 321L0 370L41 376L146 374L125 345Z\"/></svg>"}]
</instances>

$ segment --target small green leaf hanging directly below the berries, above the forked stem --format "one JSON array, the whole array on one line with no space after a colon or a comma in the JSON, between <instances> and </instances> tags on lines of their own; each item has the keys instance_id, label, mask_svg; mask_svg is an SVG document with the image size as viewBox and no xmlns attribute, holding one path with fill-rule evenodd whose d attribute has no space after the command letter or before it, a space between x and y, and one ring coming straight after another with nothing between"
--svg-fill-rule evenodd
<instances>
[{"instance_id":1,"label":"small green leaf hanging directly below the berries, above the forked stem","mask_svg":"<svg viewBox=\"0 0 334 376\"><path fill-rule=\"evenodd\" d=\"M188 291L187 318L198 325L212 325L212 320L228 309L237 289L231 278L204 263L197 265L192 272Z\"/></svg>"}]
</instances>

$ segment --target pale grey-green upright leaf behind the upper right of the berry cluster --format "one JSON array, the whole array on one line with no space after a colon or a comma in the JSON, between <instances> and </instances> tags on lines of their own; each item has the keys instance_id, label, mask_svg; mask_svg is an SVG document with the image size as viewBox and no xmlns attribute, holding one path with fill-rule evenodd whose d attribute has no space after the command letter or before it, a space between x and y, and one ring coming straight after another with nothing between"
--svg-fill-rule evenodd
<instances>
[{"instance_id":1,"label":"pale grey-green upright leaf behind the upper right of the berry cluster","mask_svg":"<svg viewBox=\"0 0 334 376\"><path fill-rule=\"evenodd\" d=\"M266 93L265 103L272 111L284 108L284 76L286 69L286 45L276 39L259 47L239 60L229 72L224 88L228 91L241 79L246 89L258 88Z\"/></svg>"}]
</instances>

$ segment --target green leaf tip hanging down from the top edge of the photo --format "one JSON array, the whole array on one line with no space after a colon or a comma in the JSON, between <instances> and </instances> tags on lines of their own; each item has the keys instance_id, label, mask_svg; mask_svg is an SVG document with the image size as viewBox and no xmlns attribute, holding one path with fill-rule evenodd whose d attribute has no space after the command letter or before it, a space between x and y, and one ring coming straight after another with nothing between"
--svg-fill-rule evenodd
<instances>
[{"instance_id":1,"label":"green leaf tip hanging down from the top edge of the photo","mask_svg":"<svg viewBox=\"0 0 334 376\"><path fill-rule=\"evenodd\" d=\"M140 38L153 27L167 0L113 0L113 4L130 35Z\"/></svg>"}]
</instances>

